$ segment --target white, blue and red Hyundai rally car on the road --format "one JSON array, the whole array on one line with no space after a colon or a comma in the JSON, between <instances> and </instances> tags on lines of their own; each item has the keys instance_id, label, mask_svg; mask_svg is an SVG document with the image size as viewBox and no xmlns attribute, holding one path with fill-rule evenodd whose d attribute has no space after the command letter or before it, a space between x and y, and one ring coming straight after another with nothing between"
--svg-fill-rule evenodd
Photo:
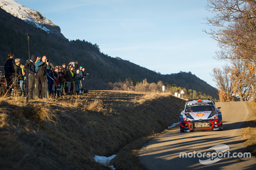
<instances>
[{"instance_id":1,"label":"white, blue and red Hyundai rally car on the road","mask_svg":"<svg viewBox=\"0 0 256 170\"><path fill-rule=\"evenodd\" d=\"M180 113L180 132L222 130L220 107L212 99L192 99Z\"/></svg>"}]
</instances>

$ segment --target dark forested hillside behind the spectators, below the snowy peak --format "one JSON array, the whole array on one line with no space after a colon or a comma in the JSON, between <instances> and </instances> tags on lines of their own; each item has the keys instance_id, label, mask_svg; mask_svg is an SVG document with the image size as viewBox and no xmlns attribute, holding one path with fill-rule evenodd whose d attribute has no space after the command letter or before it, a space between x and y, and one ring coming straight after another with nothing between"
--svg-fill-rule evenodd
<instances>
[{"instance_id":1,"label":"dark forested hillside behind the spectators, below the snowy peak","mask_svg":"<svg viewBox=\"0 0 256 170\"><path fill-rule=\"evenodd\" d=\"M172 86L177 85L219 98L215 88L191 73L161 75L135 63L108 56L100 51L97 44L85 40L69 41L48 34L2 9L0 9L0 66L4 66L8 52L13 52L15 58L21 59L21 63L26 62L28 59L27 33L29 33L30 56L46 55L54 65L77 61L78 65L85 67L86 72L89 73L86 77L89 90L106 90L109 88L107 83L122 82L126 78L132 79L135 84L147 78L148 83L157 83L160 80ZM3 71L3 67L0 67L0 70Z\"/></svg>"}]
</instances>

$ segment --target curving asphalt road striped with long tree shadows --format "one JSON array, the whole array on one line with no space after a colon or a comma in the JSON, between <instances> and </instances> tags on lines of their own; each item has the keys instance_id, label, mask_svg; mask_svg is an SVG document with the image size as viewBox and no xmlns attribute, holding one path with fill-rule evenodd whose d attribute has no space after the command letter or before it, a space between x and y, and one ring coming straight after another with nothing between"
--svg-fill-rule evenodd
<instances>
[{"instance_id":1,"label":"curving asphalt road striped with long tree shadows","mask_svg":"<svg viewBox=\"0 0 256 170\"><path fill-rule=\"evenodd\" d=\"M255 157L244 158L248 151L240 136L251 117L249 106L245 102L219 102L216 107L221 107L223 131L166 131L141 148L140 162L152 170L256 169Z\"/></svg>"}]
</instances>

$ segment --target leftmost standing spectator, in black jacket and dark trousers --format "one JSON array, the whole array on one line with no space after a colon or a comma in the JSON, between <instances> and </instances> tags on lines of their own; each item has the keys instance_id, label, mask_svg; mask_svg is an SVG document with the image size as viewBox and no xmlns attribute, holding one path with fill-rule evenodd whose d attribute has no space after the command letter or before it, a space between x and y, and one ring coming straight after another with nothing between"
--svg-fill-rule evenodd
<instances>
[{"instance_id":1,"label":"leftmost standing spectator, in black jacket and dark trousers","mask_svg":"<svg viewBox=\"0 0 256 170\"><path fill-rule=\"evenodd\" d=\"M7 59L4 63L4 71L5 71L4 77L6 79L6 91L12 85L12 74L14 73L13 64L12 64L13 57L14 57L14 54L12 52L8 53Z\"/></svg>"}]
</instances>

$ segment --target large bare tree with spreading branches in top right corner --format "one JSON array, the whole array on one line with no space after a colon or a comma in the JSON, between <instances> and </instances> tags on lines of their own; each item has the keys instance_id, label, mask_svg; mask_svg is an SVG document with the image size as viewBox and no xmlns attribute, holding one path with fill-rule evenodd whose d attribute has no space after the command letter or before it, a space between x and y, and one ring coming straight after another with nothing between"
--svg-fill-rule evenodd
<instances>
[{"instance_id":1,"label":"large bare tree with spreading branches in top right corner","mask_svg":"<svg viewBox=\"0 0 256 170\"><path fill-rule=\"evenodd\" d=\"M256 63L256 1L208 0L208 11L215 15L206 18L212 28L211 37L221 48L217 59L244 59Z\"/></svg>"}]
</instances>

